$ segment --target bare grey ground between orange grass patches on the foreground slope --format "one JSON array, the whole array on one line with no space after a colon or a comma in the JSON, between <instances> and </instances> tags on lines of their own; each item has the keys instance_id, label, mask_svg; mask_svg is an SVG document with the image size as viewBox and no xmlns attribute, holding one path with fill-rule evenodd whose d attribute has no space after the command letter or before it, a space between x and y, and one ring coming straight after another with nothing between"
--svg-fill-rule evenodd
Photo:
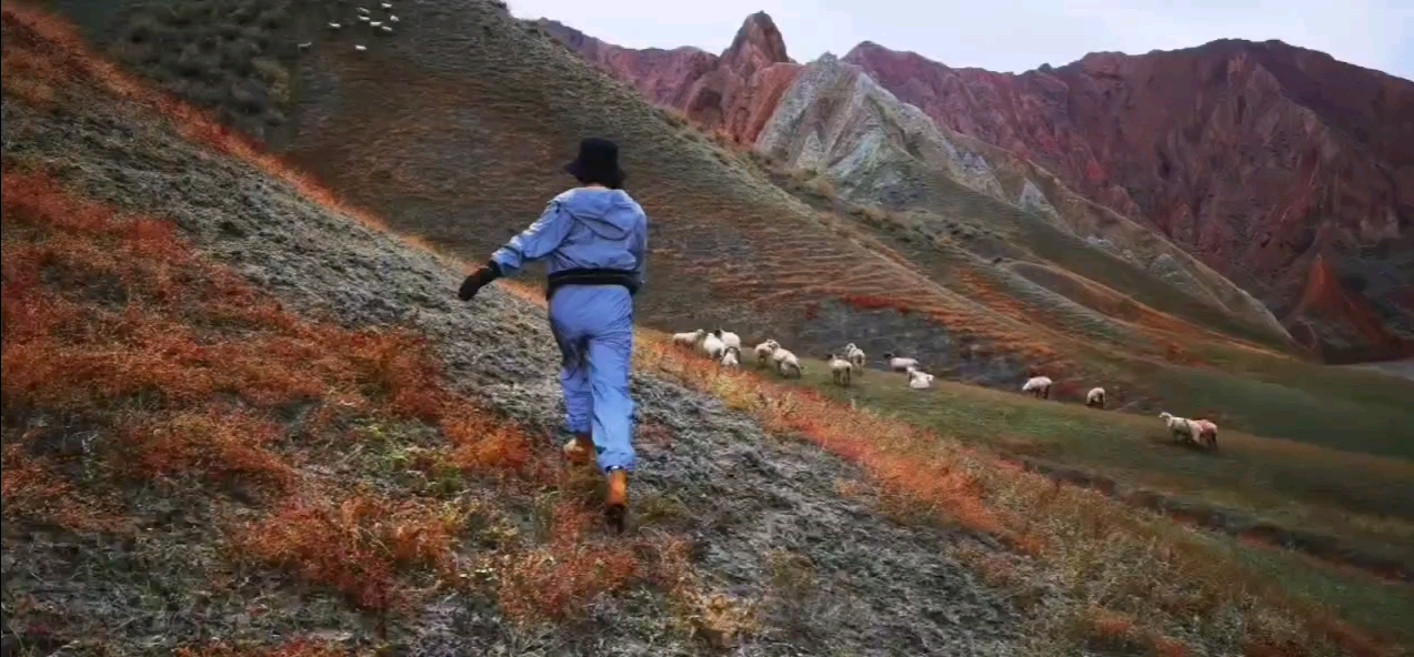
<instances>
[{"instance_id":1,"label":"bare grey ground between orange grass patches on the foreground slope","mask_svg":"<svg viewBox=\"0 0 1414 657\"><path fill-rule=\"evenodd\" d=\"M255 168L199 153L167 129L112 113L42 114L4 103L4 154L42 162L76 191L177 220L215 257L305 312L352 326L414 322L440 348L458 386L546 432L560 424L557 357L543 309L501 290L455 300L448 263L297 198ZM837 482L861 475L790 439L771 437L718 400L635 379L642 420L667 430L643 441L635 495L674 500L674 531L694 543L697 569L724 591L768 600L766 632L738 654L1017 654L1019 617L1001 593L950 554L976 538L898 526ZM641 527L639 531L652 531ZM814 584L772 591L779 557ZM427 609L410 654L691 654L660 632L645 603L600 610L590 633L525 636L475 600Z\"/></svg>"}]
</instances>

